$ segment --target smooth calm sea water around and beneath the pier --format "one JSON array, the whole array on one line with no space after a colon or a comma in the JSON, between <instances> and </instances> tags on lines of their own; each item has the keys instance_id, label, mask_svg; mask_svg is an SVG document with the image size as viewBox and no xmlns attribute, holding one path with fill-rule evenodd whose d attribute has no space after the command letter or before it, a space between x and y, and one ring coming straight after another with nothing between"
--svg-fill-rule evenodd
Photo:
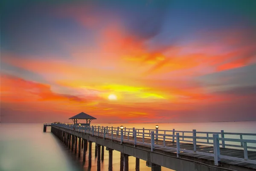
<instances>
[{"instance_id":1,"label":"smooth calm sea water around and beneath the pier","mask_svg":"<svg viewBox=\"0 0 256 171\"><path fill-rule=\"evenodd\" d=\"M93 123L92 125L98 125ZM147 128L153 129L156 124L107 124L101 126L120 126L127 128ZM175 128L179 131L220 131L255 133L256 122L223 122L223 123L158 123L159 129ZM237 137L238 138L238 137ZM245 138L244 138L245 139ZM96 171L96 159L94 157L95 144L92 149L92 167L90 171ZM81 154L82 156L82 154ZM88 152L86 156L88 160ZM113 151L113 171L119 170L120 153ZM88 163L82 162L68 150L50 132L43 132L43 124L24 124L24 123L1 123L0 125L0 171L87 171ZM108 151L105 151L104 161L101 164L102 171L108 171ZM135 158L129 157L129 170L135 170ZM140 160L141 171L151 171L145 165L145 161ZM162 168L162 171L171 171Z\"/></svg>"}]
</instances>

